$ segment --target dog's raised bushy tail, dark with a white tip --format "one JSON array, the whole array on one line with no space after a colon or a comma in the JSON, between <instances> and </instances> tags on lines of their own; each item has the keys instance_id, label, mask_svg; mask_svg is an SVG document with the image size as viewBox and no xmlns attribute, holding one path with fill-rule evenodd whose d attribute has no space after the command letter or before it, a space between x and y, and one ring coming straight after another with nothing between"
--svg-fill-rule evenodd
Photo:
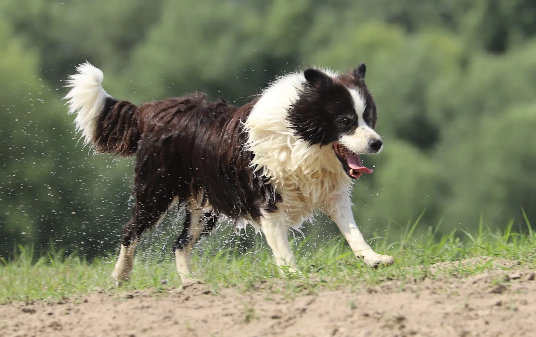
<instances>
[{"instance_id":1,"label":"dog's raised bushy tail, dark with a white tip","mask_svg":"<svg viewBox=\"0 0 536 337\"><path fill-rule=\"evenodd\" d=\"M82 133L84 143L100 153L135 154L140 137L138 107L108 95L102 88L104 76L99 68L86 62L76 70L69 75L66 87L71 90L64 99L69 99L69 113L77 114L76 131Z\"/></svg>"}]
</instances>

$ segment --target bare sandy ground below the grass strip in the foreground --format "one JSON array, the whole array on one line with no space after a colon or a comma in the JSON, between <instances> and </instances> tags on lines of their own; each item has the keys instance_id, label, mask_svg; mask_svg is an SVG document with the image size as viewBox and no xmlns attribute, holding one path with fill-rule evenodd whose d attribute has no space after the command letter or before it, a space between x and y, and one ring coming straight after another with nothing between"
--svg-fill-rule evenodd
<instances>
[{"instance_id":1,"label":"bare sandy ground below the grass strip in the foreground","mask_svg":"<svg viewBox=\"0 0 536 337\"><path fill-rule=\"evenodd\" d=\"M535 336L534 276L515 267L293 296L277 283L254 292L94 293L0 305L0 336Z\"/></svg>"}]
</instances>

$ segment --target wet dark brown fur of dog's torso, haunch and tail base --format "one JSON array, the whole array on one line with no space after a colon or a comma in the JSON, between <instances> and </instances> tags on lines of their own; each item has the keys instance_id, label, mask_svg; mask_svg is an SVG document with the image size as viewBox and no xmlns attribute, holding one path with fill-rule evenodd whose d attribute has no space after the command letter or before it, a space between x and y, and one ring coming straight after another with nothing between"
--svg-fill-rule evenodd
<instances>
[{"instance_id":1,"label":"wet dark brown fur of dog's torso, haunch and tail base","mask_svg":"<svg viewBox=\"0 0 536 337\"><path fill-rule=\"evenodd\" d=\"M280 196L250 167L242 127L254 103L242 107L205 94L163 99L139 107L108 97L93 134L95 150L137 154L136 204L123 244L157 223L175 197L210 204L215 216L258 219L276 210Z\"/></svg>"}]
</instances>

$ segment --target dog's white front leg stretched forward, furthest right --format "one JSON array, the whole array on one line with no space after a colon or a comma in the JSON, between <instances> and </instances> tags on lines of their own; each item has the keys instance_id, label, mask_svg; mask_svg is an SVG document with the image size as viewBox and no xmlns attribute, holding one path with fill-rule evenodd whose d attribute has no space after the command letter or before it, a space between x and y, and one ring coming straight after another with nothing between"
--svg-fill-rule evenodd
<instances>
[{"instance_id":1,"label":"dog's white front leg stretched forward, furthest right","mask_svg":"<svg viewBox=\"0 0 536 337\"><path fill-rule=\"evenodd\" d=\"M349 197L337 196L334 199L336 199L334 200L336 203L330 205L329 216L343 233L355 256L363 258L363 261L369 266L377 266L382 263L392 264L392 256L377 254L364 240L358 226L355 224Z\"/></svg>"}]
</instances>

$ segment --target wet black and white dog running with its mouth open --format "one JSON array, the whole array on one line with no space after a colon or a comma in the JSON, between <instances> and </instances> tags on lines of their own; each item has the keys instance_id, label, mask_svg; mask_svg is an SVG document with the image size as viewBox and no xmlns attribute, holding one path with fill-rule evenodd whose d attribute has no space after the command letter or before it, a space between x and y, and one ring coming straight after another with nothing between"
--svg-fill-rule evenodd
<instances>
[{"instance_id":1,"label":"wet black and white dog running with its mouth open","mask_svg":"<svg viewBox=\"0 0 536 337\"><path fill-rule=\"evenodd\" d=\"M392 263L363 239L352 215L354 179L373 170L359 155L382 150L366 67L348 73L308 68L280 76L243 106L205 94L136 106L102 89L89 63L68 80L69 112L96 152L137 155L132 218L113 278L129 279L136 243L173 202L187 220L174 244L177 271L191 282L190 254L221 219L262 231L278 266L296 269L289 227L323 211L368 265Z\"/></svg>"}]
</instances>

